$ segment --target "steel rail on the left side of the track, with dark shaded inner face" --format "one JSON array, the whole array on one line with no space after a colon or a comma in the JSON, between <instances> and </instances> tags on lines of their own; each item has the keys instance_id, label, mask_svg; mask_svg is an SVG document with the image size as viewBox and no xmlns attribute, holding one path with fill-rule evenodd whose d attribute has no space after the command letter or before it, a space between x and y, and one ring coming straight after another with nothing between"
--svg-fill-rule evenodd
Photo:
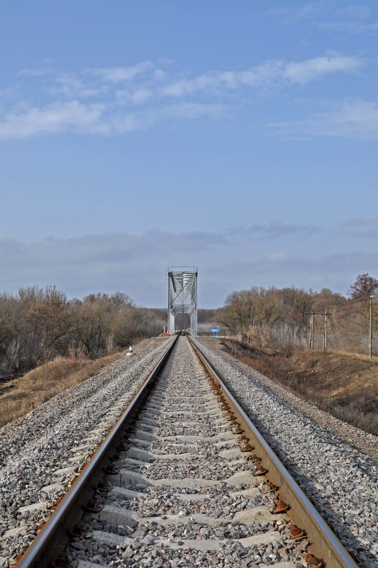
<instances>
[{"instance_id":1,"label":"steel rail on the left side of the track, with dark shaded inner face","mask_svg":"<svg viewBox=\"0 0 378 568\"><path fill-rule=\"evenodd\" d=\"M65 549L70 538L70 530L84 514L84 506L94 494L96 485L104 477L104 468L116 453L116 447L125 434L130 421L133 419L140 404L150 390L162 366L172 352L177 342L176 336L172 345L160 358L152 372L145 379L138 391L126 406L121 416L114 423L106 438L85 465L82 473L75 479L59 506L50 515L43 529L38 533L16 564L16 568L50 568L51 563Z\"/></svg>"}]
</instances>

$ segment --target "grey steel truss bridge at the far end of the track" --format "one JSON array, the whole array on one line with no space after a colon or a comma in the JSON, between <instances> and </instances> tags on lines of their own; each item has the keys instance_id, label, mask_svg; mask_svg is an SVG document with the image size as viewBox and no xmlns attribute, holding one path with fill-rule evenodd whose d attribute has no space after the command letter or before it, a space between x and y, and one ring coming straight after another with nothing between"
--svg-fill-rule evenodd
<instances>
[{"instance_id":1,"label":"grey steel truss bridge at the far end of the track","mask_svg":"<svg viewBox=\"0 0 378 568\"><path fill-rule=\"evenodd\" d=\"M168 333L174 333L177 313L189 313L191 335L197 335L197 267L167 268Z\"/></svg>"}]
</instances>

